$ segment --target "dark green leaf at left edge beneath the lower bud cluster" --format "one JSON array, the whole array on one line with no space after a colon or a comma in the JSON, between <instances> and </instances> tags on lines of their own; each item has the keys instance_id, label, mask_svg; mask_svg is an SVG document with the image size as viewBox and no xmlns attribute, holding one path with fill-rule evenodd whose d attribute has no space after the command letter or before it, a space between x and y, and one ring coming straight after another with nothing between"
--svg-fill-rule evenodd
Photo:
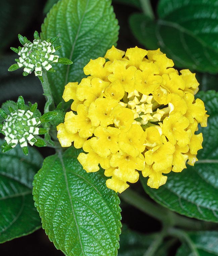
<instances>
[{"instance_id":1,"label":"dark green leaf at left edge beneath the lower bud cluster","mask_svg":"<svg viewBox=\"0 0 218 256\"><path fill-rule=\"evenodd\" d=\"M3 140L0 140L0 145ZM40 153L30 148L24 156L20 147L0 152L0 243L24 236L40 228L34 207L32 182L42 166Z\"/></svg>"}]
</instances>

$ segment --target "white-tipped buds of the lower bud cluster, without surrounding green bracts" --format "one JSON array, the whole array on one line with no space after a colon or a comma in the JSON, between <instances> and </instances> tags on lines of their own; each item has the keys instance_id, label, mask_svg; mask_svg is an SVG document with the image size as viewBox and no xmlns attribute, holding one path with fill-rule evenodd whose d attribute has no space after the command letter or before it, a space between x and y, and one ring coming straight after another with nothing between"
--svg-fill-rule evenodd
<instances>
[{"instance_id":1,"label":"white-tipped buds of the lower bud cluster, without surrounding green bracts","mask_svg":"<svg viewBox=\"0 0 218 256\"><path fill-rule=\"evenodd\" d=\"M18 109L11 112L3 123L2 133L5 134L5 140L9 146L14 148L18 143L20 147L27 147L29 142L31 146L37 142L34 135L39 134L39 128L36 127L41 123L39 117L34 117L30 110L24 111Z\"/></svg>"}]
</instances>

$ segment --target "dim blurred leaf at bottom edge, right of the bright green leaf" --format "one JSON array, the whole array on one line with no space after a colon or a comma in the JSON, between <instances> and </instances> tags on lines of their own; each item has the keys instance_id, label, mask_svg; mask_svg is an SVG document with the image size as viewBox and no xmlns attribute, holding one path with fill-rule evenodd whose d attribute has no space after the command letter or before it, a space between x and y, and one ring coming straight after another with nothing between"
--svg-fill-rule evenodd
<instances>
[{"instance_id":1,"label":"dim blurred leaf at bottom edge, right of the bright green leaf","mask_svg":"<svg viewBox=\"0 0 218 256\"><path fill-rule=\"evenodd\" d=\"M148 250L152 243L155 243L160 234L144 235L131 231L126 226L122 227L120 235L120 248L118 256L142 256ZM166 243L165 243L166 244ZM162 244L156 251L156 256L167 256L167 248Z\"/></svg>"}]
</instances>

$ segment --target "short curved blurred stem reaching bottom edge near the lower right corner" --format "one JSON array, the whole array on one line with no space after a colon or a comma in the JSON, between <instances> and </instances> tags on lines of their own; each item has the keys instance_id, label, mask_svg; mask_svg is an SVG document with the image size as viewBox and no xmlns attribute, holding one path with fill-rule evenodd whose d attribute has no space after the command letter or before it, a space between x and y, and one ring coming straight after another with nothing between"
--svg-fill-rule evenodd
<instances>
[{"instance_id":1,"label":"short curved blurred stem reaching bottom edge near the lower right corner","mask_svg":"<svg viewBox=\"0 0 218 256\"><path fill-rule=\"evenodd\" d=\"M198 253L198 250L193 243L193 241L190 239L190 237L181 229L177 228L169 228L167 231L168 235L171 235L173 237L177 237L181 242L186 242L189 246L190 250L192 251L193 256L200 256Z\"/></svg>"}]
</instances>

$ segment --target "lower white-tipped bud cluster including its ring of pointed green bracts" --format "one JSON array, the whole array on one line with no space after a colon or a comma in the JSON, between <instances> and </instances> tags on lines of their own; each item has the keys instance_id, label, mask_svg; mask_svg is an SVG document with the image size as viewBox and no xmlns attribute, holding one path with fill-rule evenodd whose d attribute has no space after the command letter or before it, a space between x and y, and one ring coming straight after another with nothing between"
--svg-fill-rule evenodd
<instances>
[{"instance_id":1,"label":"lower white-tipped bud cluster including its ring of pointed green bracts","mask_svg":"<svg viewBox=\"0 0 218 256\"><path fill-rule=\"evenodd\" d=\"M32 105L29 102L29 106L25 105L22 96L19 96L17 104L13 101L9 103L10 105L7 104L7 102L3 103L4 109L0 108L0 116L4 119L3 124L0 123L0 133L5 136L6 141L1 146L2 152L11 150L17 144L20 144L25 155L28 155L28 143L31 146L45 147L46 139L42 139L39 135L46 135L49 130L38 126L53 120L57 112L49 111L41 115L37 110L37 103Z\"/></svg>"}]
</instances>

